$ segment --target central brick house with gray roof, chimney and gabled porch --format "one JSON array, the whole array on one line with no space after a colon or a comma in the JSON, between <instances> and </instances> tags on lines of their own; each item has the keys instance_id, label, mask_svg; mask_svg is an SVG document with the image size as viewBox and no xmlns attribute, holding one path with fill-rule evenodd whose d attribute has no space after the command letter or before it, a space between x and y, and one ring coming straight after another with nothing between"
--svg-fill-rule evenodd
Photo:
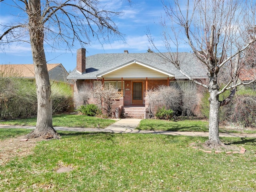
<instances>
[{"instance_id":1,"label":"central brick house with gray roof, chimney and gabled porch","mask_svg":"<svg viewBox=\"0 0 256 192\"><path fill-rule=\"evenodd\" d=\"M192 78L208 78L207 70L194 54L186 52L178 54L180 66L184 72ZM163 53L161 57L152 52L128 53L128 50L124 50L124 53L95 54L86 57L86 50L81 48L77 50L76 68L67 79L75 80L74 92L79 90L82 84L88 84L91 87L99 82L112 84L120 93L116 106L123 106L125 114L128 114L128 108L145 111L146 90L188 79L163 58L169 56L169 53ZM143 115L146 118L145 113Z\"/></svg>"}]
</instances>

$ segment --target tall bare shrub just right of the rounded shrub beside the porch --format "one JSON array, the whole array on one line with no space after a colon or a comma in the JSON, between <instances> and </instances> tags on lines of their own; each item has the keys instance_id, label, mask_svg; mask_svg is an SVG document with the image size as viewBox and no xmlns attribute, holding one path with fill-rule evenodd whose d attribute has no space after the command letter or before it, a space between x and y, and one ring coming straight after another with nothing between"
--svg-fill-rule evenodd
<instances>
[{"instance_id":1,"label":"tall bare shrub just right of the rounded shrub beside the porch","mask_svg":"<svg viewBox=\"0 0 256 192\"><path fill-rule=\"evenodd\" d=\"M182 92L182 115L192 116L193 109L199 103L196 84L192 81L179 81L178 86Z\"/></svg>"}]
</instances>

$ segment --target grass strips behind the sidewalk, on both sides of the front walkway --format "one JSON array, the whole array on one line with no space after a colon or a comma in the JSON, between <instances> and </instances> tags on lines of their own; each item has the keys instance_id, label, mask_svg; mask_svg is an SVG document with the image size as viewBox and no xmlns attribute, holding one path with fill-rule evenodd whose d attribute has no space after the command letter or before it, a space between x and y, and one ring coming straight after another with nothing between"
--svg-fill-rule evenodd
<instances>
[{"instance_id":1,"label":"grass strips behind the sidewalk, on both sides of the front walkway","mask_svg":"<svg viewBox=\"0 0 256 192\"><path fill-rule=\"evenodd\" d=\"M53 115L54 127L84 127L84 128L106 128L116 122L111 119L102 119L84 115ZM8 121L0 121L0 124L36 126L36 118L24 118ZM189 132L208 132L208 121L206 120L179 120L168 121L158 119L143 119L137 127L138 130L163 130L163 131L189 131ZM230 130L225 127L219 129L220 132L248 133L256 134L256 130Z\"/></svg>"}]
</instances>

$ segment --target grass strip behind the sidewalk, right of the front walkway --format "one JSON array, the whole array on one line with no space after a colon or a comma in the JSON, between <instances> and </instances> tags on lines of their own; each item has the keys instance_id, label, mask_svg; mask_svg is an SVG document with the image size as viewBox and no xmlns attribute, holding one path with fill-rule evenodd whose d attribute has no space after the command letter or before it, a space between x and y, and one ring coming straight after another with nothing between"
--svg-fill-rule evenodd
<instances>
[{"instance_id":1,"label":"grass strip behind the sidewalk, right of the front walkway","mask_svg":"<svg viewBox=\"0 0 256 192\"><path fill-rule=\"evenodd\" d=\"M163 130L163 131L188 131L188 132L208 132L209 122L206 120L180 120L168 121L158 119L143 119L138 125L138 130ZM219 128L219 132L248 133L255 134L256 130L230 130L225 127Z\"/></svg>"}]
</instances>

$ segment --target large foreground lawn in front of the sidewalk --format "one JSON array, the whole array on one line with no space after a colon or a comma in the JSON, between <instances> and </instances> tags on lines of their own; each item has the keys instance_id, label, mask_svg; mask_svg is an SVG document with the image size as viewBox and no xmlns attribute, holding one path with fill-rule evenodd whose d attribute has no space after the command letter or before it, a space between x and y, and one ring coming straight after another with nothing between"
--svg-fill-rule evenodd
<instances>
[{"instance_id":1,"label":"large foreground lawn in front of the sidewalk","mask_svg":"<svg viewBox=\"0 0 256 192\"><path fill-rule=\"evenodd\" d=\"M59 132L62 139L39 142L34 154L0 166L1 192L256 189L256 138L222 138L247 150L226 155L189 146L203 137ZM74 170L58 174L60 166Z\"/></svg>"}]
</instances>

